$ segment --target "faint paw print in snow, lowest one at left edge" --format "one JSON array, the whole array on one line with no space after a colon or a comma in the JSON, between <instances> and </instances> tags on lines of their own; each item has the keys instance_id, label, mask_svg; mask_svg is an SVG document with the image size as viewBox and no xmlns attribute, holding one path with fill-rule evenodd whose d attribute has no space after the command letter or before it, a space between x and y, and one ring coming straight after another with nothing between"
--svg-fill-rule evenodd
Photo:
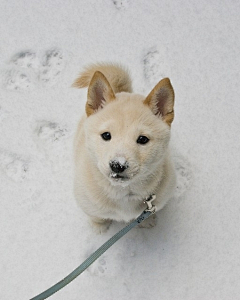
<instances>
[{"instance_id":1,"label":"faint paw print in snow, lowest one at left edge","mask_svg":"<svg viewBox=\"0 0 240 300\"><path fill-rule=\"evenodd\" d=\"M0 150L0 168L15 182L31 177L31 162L7 151Z\"/></svg>"}]
</instances>

